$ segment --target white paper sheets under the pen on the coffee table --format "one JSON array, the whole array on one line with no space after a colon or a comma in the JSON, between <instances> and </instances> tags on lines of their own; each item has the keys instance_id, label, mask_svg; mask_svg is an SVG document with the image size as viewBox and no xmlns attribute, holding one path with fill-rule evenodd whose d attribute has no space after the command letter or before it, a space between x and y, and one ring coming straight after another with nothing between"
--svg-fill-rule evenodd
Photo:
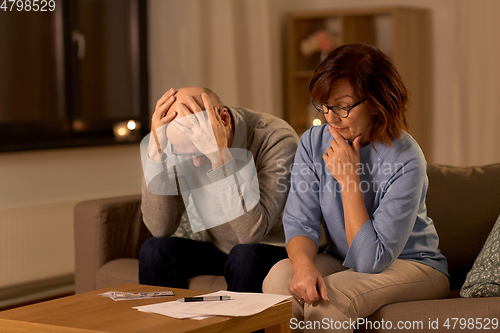
<instances>
[{"instance_id":1,"label":"white paper sheets under the pen on the coffee table","mask_svg":"<svg viewBox=\"0 0 500 333\"><path fill-rule=\"evenodd\" d=\"M286 295L239 293L231 291L217 291L200 296L231 296L227 301L207 302L164 302L144 306L136 306L134 309L143 312L162 314L173 318L193 318L200 316L250 316L291 298Z\"/></svg>"}]
</instances>

